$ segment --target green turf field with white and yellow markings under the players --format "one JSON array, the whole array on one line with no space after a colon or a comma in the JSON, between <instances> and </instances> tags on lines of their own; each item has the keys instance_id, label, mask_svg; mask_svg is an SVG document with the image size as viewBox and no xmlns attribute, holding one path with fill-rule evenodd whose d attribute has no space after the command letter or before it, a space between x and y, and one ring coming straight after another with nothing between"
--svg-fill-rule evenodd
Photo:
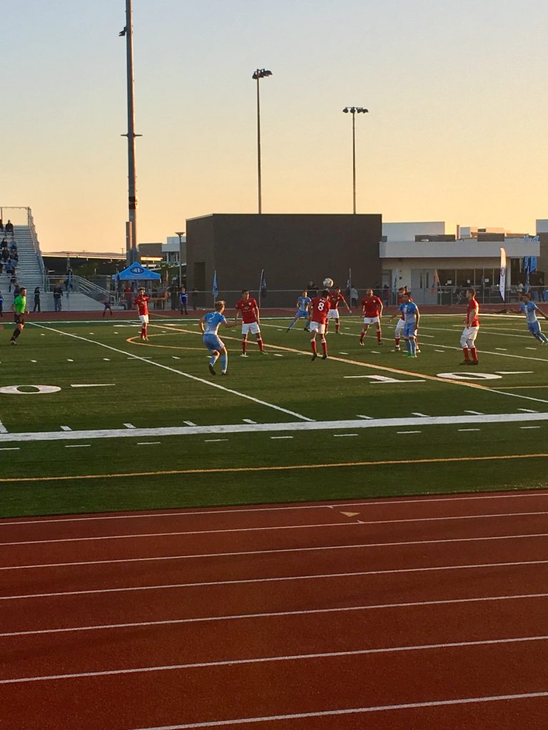
<instances>
[{"instance_id":1,"label":"green turf field with white and yellow markings under the players","mask_svg":"<svg viewBox=\"0 0 548 730\"><path fill-rule=\"evenodd\" d=\"M267 354L225 330L212 377L197 320L29 323L1 334L0 516L546 486L548 347L525 319L424 315L416 359L342 318L330 357L263 318ZM395 324L395 323L394 323ZM402 343L403 344L403 343Z\"/></svg>"}]
</instances>

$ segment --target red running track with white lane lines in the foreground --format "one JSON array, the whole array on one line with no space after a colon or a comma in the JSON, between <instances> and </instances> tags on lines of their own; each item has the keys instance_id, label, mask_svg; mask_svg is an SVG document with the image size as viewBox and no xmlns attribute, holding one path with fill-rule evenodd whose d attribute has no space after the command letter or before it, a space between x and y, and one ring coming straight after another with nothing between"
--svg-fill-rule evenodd
<instances>
[{"instance_id":1,"label":"red running track with white lane lines in the foreground","mask_svg":"<svg viewBox=\"0 0 548 730\"><path fill-rule=\"evenodd\" d=\"M544 730L547 518L539 491L3 520L0 728Z\"/></svg>"}]
</instances>

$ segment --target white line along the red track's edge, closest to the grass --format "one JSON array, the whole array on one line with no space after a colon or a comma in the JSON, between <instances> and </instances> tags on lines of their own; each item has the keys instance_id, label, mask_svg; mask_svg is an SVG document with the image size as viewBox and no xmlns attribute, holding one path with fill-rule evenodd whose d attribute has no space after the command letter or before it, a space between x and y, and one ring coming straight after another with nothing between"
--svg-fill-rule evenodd
<instances>
[{"instance_id":1,"label":"white line along the red track's edge, closest to the grass","mask_svg":"<svg viewBox=\"0 0 548 730\"><path fill-rule=\"evenodd\" d=\"M332 509L332 507L378 507L387 506L389 504L423 504L431 502L470 502L471 499L477 499L480 501L490 499L526 499L528 497L548 497L548 491L536 491L531 490L525 493L516 494L514 492L508 492L503 494L472 494L466 496L446 496L441 494L435 497L414 497L412 499L395 499L387 498L384 500L369 500L366 502L324 502L315 504L283 504L281 506L274 507L243 507L235 508L233 510L216 510L215 507L210 507L207 510L189 510L172 512L132 512L131 514L119 514L119 515L88 515L86 517L56 517L56 518L39 518L34 520L0 520L0 528L11 527L17 525L34 525L40 523L50 522L94 522L95 520L145 520L159 517L193 517L194 515L227 515L231 513L240 514L240 512L286 512L287 510L324 510Z\"/></svg>"}]
</instances>

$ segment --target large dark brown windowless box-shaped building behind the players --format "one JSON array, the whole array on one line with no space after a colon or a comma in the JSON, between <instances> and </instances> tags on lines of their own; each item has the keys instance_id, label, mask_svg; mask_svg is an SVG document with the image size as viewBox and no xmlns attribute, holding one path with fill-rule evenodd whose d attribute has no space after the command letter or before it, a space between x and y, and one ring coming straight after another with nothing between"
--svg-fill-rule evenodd
<instances>
[{"instance_id":1,"label":"large dark brown windowless box-shaped building behind the players","mask_svg":"<svg viewBox=\"0 0 548 730\"><path fill-rule=\"evenodd\" d=\"M216 269L219 295L229 304L243 288L256 293L261 269L268 306L293 306L293 294L275 291L297 291L311 280L321 287L327 276L344 289L349 268L358 288L381 281L381 215L213 214L187 220L186 240L188 288L202 289L197 277L205 264L205 291Z\"/></svg>"}]
</instances>

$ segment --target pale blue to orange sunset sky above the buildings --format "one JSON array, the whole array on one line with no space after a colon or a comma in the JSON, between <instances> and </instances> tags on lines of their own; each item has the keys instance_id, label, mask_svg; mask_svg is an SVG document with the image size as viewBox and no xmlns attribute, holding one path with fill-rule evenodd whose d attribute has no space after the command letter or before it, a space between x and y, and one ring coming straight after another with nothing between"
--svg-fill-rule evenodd
<instances>
[{"instance_id":1,"label":"pale blue to orange sunset sky above the buildings","mask_svg":"<svg viewBox=\"0 0 548 730\"><path fill-rule=\"evenodd\" d=\"M2 9L0 204L42 250L125 247L124 0ZM534 232L548 218L545 0L134 0L139 242L186 218L358 212ZM4 212L4 221L8 217Z\"/></svg>"}]
</instances>

